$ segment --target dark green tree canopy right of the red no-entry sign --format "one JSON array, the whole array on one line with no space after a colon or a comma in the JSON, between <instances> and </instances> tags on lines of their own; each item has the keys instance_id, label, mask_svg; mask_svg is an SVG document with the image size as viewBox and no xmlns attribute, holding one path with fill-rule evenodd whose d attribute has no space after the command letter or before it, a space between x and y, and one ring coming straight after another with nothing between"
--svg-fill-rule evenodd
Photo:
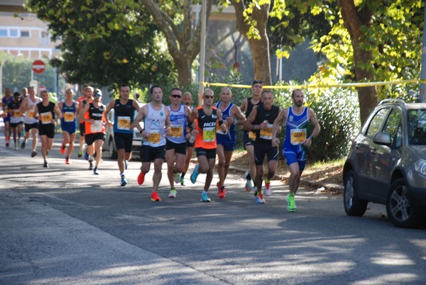
<instances>
[{"instance_id":1,"label":"dark green tree canopy right of the red no-entry sign","mask_svg":"<svg viewBox=\"0 0 426 285\"><path fill-rule=\"evenodd\" d=\"M30 0L27 4L49 23L62 55L52 64L70 83L114 86L173 81L174 62L158 47L148 11L133 1Z\"/></svg>"}]
</instances>

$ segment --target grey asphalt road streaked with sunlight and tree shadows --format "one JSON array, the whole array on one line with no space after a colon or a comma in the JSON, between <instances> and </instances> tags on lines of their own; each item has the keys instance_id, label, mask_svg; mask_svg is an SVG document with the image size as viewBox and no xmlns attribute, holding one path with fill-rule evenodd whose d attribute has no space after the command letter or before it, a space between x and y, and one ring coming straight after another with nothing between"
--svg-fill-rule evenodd
<instances>
[{"instance_id":1,"label":"grey asphalt road streaked with sunlight and tree shadows","mask_svg":"<svg viewBox=\"0 0 426 285\"><path fill-rule=\"evenodd\" d=\"M138 186L139 162L120 187L116 162L99 176L55 145L50 168L30 150L0 138L0 284L425 284L426 231L395 228L371 204L346 216L342 196L300 189L297 211L288 187L254 203L241 173L226 181L225 199L200 203L204 175L168 199L163 165L151 202L153 171ZM152 167L151 167L152 168ZM213 184L217 182L215 175Z\"/></svg>"}]
</instances>

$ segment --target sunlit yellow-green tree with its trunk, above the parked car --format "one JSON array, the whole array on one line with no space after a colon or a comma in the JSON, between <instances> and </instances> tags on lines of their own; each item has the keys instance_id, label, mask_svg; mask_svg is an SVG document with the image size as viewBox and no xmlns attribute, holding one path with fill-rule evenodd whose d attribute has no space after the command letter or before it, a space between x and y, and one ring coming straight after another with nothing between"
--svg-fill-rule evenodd
<instances>
[{"instance_id":1,"label":"sunlit yellow-green tree with its trunk, above the parked car","mask_svg":"<svg viewBox=\"0 0 426 285\"><path fill-rule=\"evenodd\" d=\"M255 35L257 23L251 11L263 6L269 10L271 2L244 1L249 3L244 12L246 23L251 23L251 32ZM342 80L373 82L418 78L423 9L421 0L284 0L273 1L269 16L277 18L278 26L288 31L285 38L300 42L309 36L315 51L327 57L312 81L322 84ZM323 15L329 23L329 32L315 33L315 30L324 30L323 21L301 21L312 19L306 17L307 14ZM310 35L300 33L301 28L310 31ZM288 55L285 48L278 50L277 55ZM394 95L390 94L390 86L381 87L379 92L381 96ZM376 86L359 87L361 122L377 100Z\"/></svg>"}]
</instances>

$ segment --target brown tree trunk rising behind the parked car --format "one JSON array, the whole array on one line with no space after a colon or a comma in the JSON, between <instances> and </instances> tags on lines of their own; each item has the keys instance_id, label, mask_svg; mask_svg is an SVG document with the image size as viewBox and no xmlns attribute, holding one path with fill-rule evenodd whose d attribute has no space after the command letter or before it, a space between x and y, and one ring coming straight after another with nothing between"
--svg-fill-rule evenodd
<instances>
[{"instance_id":1,"label":"brown tree trunk rising behind the parked car","mask_svg":"<svg viewBox=\"0 0 426 285\"><path fill-rule=\"evenodd\" d=\"M354 0L338 0L337 4L342 12L344 25L351 35L352 47L354 48L356 81L373 82L375 80L373 73L364 68L371 62L371 52L363 50L360 46L362 43L366 43L368 41L362 32L361 27L370 26L373 11L368 10L367 6L361 10L357 10ZM377 105L378 98L376 86L359 87L358 99L361 124L364 124L368 118L368 114L371 113L373 108Z\"/></svg>"}]
</instances>

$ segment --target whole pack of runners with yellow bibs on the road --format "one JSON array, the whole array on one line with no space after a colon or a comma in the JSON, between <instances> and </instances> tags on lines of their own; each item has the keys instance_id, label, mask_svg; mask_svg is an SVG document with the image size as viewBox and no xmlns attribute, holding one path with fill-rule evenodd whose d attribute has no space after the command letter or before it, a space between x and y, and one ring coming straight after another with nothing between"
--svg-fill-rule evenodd
<instances>
[{"instance_id":1,"label":"whole pack of runners with yellow bibs on the road","mask_svg":"<svg viewBox=\"0 0 426 285\"><path fill-rule=\"evenodd\" d=\"M199 174L206 174L204 188L201 193L202 202L209 202L209 188L212 184L216 156L218 157L217 193L220 199L226 196L226 176L232 152L236 148L235 126L241 125L244 130L244 147L248 152L250 165L246 172L246 191L253 191L256 203L265 203L264 196L271 196L271 179L275 175L278 163L277 136L285 125L283 156L290 169L290 194L286 196L288 211L295 211L295 193L300 183L300 176L305 168L307 148L320 133L320 125L311 108L304 106L305 96L300 89L293 91L293 106L281 109L273 105L273 91L263 90L263 83L255 80L252 84L251 98L244 99L241 106L231 102L231 89L225 87L214 104L214 91L205 89L202 105L192 107L192 95L182 94L179 88L170 91L170 105L163 104L163 88L153 85L150 89L151 101L140 106L137 101L129 99L130 87L123 84L119 87L119 99L112 100L107 106L102 104L102 92L92 86L84 86L84 95L73 99L72 89L67 89L65 99L53 104L48 99L48 92L41 93L41 99L35 96L32 87L28 88L28 96L20 106L8 104L6 117L14 118L14 112L23 116L25 138L21 143L24 148L30 131L33 134L33 150L31 156L37 155L37 133L40 135L43 167L48 167L48 152L52 148L55 133L55 120L61 120L62 143L60 152L65 155L65 163L70 164L77 131L77 118L80 121L80 150L78 157L89 162L89 169L99 174L99 162L102 157L102 145L106 136L106 128L112 126L114 143L118 153L118 167L121 186L126 186L125 177L128 161L131 159L133 129L137 128L143 138L141 149L141 172L138 184L142 185L146 174L153 163L153 179L151 200L161 201L158 186L162 179L161 168L167 162L168 181L170 183L169 198L176 198L175 184L185 185L185 174L189 168L192 153L195 149L197 164L190 181L195 184ZM2 101L3 104L4 101ZM112 121L109 112L114 109ZM141 124L143 122L143 124ZM312 123L312 133L307 133L307 125ZM6 134L5 134L6 135ZM17 147L15 140L15 147ZM84 147L86 143L87 147ZM6 145L9 140L6 138ZM66 154L65 154L66 153ZM268 160L265 188L262 191L265 157ZM94 162L94 163L93 163ZM94 164L94 165L93 165Z\"/></svg>"}]
</instances>

